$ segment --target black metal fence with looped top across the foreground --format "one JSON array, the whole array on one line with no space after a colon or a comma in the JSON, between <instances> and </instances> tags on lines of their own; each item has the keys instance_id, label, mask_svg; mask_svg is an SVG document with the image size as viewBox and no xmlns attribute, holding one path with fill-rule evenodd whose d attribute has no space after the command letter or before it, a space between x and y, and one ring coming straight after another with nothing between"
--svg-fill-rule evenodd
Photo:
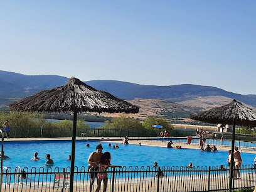
<instances>
[{"instance_id":1,"label":"black metal fence with looped top across the foreground","mask_svg":"<svg viewBox=\"0 0 256 192\"><path fill-rule=\"evenodd\" d=\"M240 179L234 179L233 189L253 188L256 173L253 166L239 169ZM2 191L68 191L70 169L59 168L4 168ZM237 171L237 170L235 170ZM124 167L102 172L107 191L226 191L229 174L227 167ZM75 191L89 191L87 168L75 168ZM103 179L103 180L104 180ZM99 180L101 189L104 182ZM92 186L95 191L97 179Z\"/></svg>"}]
</instances>

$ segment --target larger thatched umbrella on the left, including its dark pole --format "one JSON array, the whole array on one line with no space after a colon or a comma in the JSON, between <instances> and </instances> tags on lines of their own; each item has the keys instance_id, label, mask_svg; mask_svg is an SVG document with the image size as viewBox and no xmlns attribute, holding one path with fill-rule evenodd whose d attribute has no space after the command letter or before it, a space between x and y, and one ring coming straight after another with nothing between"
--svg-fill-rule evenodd
<instances>
[{"instance_id":1,"label":"larger thatched umbrella on the left, including its dark pole","mask_svg":"<svg viewBox=\"0 0 256 192\"><path fill-rule=\"evenodd\" d=\"M14 111L29 112L73 112L72 159L70 166L70 191L73 191L73 175L75 166L75 138L77 129L77 113L80 112L124 112L137 113L139 107L118 99L108 92L96 90L81 82L78 78L70 78L66 85L43 90L33 96L26 97L9 105Z\"/></svg>"}]
</instances>

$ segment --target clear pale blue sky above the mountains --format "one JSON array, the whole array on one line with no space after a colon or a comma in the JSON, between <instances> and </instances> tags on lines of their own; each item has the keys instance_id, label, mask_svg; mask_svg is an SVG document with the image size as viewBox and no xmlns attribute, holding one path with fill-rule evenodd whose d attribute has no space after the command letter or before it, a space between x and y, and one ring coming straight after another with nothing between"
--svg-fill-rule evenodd
<instances>
[{"instance_id":1,"label":"clear pale blue sky above the mountains","mask_svg":"<svg viewBox=\"0 0 256 192\"><path fill-rule=\"evenodd\" d=\"M256 94L256 1L1 1L0 70Z\"/></svg>"}]
</instances>

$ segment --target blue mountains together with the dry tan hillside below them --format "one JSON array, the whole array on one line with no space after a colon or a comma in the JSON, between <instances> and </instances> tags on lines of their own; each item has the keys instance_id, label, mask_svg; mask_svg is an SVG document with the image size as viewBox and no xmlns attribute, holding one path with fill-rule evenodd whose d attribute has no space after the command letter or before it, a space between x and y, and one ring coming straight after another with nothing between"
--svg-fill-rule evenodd
<instances>
[{"instance_id":1,"label":"blue mountains together with the dry tan hillside below them","mask_svg":"<svg viewBox=\"0 0 256 192\"><path fill-rule=\"evenodd\" d=\"M22 75L0 71L0 106L33 95L40 90L58 87L68 81L57 75ZM193 112L228 104L232 99L256 107L256 95L240 95L220 88L201 85L139 85L114 80L92 80L88 85L112 93L140 106L139 117L166 115L185 117ZM134 115L137 117L138 115Z\"/></svg>"}]
</instances>

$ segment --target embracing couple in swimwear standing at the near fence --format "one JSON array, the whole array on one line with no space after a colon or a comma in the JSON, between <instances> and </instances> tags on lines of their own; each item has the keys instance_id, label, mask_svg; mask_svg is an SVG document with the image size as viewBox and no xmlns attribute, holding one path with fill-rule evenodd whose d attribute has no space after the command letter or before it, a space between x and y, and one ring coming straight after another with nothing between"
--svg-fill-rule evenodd
<instances>
[{"instance_id":1,"label":"embracing couple in swimwear standing at the near fence","mask_svg":"<svg viewBox=\"0 0 256 192\"><path fill-rule=\"evenodd\" d=\"M105 171L107 171L107 169L110 167L122 168L122 166L112 166L112 164L110 164L110 152L102 153L102 149L102 144L97 145L96 151L92 152L88 158L88 172L90 172L90 192L92 191L95 178L97 178L96 192L100 191L101 181L104 183L103 191L105 192L107 190L107 173Z\"/></svg>"}]
</instances>

